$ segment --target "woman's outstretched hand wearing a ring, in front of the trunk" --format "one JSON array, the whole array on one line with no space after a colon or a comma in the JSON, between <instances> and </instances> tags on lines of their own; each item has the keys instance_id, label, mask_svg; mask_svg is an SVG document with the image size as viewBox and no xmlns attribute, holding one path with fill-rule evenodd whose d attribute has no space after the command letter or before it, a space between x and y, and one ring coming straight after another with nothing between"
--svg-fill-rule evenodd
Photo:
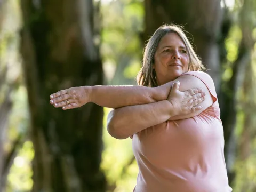
<instances>
[{"instance_id":1,"label":"woman's outstretched hand wearing a ring, in front of the trunk","mask_svg":"<svg viewBox=\"0 0 256 192\"><path fill-rule=\"evenodd\" d=\"M54 107L62 107L64 110L81 107L91 102L91 92L91 86L71 87L51 94L50 103Z\"/></svg>"}]
</instances>

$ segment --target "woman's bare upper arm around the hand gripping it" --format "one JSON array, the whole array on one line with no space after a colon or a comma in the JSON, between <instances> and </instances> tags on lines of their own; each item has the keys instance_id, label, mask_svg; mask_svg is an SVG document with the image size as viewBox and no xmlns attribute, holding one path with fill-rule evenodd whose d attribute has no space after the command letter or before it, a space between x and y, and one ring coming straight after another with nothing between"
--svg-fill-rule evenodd
<instances>
[{"instance_id":1,"label":"woman's bare upper arm around the hand gripping it","mask_svg":"<svg viewBox=\"0 0 256 192\"><path fill-rule=\"evenodd\" d=\"M201 88L203 92L205 92L205 100L198 105L198 106L202 106L201 110L198 110L188 115L174 116L170 118L170 120L178 120L178 119L194 117L200 114L202 111L204 111L208 107L212 106L214 102L212 98L212 94L209 88L206 86L205 82L203 82L201 79L193 75L182 75L178 77L176 80L180 81L180 87L179 87L180 91L187 91L189 89Z\"/></svg>"}]
</instances>

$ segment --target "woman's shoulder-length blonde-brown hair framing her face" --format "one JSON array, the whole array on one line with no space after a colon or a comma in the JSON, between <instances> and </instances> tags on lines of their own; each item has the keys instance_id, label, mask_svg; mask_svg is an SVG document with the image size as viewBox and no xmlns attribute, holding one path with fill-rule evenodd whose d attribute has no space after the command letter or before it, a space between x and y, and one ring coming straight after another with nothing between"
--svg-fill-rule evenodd
<instances>
[{"instance_id":1,"label":"woman's shoulder-length blonde-brown hair framing her face","mask_svg":"<svg viewBox=\"0 0 256 192\"><path fill-rule=\"evenodd\" d=\"M202 61L196 55L182 27L177 25L162 25L155 31L153 36L151 36L144 49L142 67L136 78L138 85L149 87L157 86L156 72L153 69L154 55L161 39L169 33L177 33L185 43L189 55L188 71L199 71L205 69Z\"/></svg>"}]
</instances>

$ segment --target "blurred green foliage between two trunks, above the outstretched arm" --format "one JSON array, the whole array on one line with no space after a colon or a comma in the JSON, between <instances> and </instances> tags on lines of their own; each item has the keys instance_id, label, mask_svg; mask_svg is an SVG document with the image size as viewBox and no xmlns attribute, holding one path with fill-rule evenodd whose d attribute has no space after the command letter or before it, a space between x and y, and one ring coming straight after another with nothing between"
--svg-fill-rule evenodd
<instances>
[{"instance_id":1,"label":"blurred green foliage between two trunks, above the outstretched arm","mask_svg":"<svg viewBox=\"0 0 256 192\"><path fill-rule=\"evenodd\" d=\"M101 55L108 84L134 84L138 71L126 68L131 65L134 67L134 63L138 65L135 69L140 68L142 47L139 34L143 30L144 15L142 3L138 0L123 0L102 4Z\"/></svg>"}]
</instances>

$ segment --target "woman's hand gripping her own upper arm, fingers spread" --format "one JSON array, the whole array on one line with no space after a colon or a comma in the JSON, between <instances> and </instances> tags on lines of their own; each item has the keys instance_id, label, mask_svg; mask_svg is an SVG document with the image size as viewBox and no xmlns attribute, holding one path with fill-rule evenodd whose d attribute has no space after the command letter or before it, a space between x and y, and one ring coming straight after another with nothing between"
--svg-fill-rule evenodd
<instances>
[{"instance_id":1,"label":"woman's hand gripping her own upper arm, fingers spread","mask_svg":"<svg viewBox=\"0 0 256 192\"><path fill-rule=\"evenodd\" d=\"M185 92L179 91L180 82L175 82L167 97L173 106L172 115L187 115L201 110L198 104L205 100L205 93L201 89L190 89Z\"/></svg>"}]
</instances>

